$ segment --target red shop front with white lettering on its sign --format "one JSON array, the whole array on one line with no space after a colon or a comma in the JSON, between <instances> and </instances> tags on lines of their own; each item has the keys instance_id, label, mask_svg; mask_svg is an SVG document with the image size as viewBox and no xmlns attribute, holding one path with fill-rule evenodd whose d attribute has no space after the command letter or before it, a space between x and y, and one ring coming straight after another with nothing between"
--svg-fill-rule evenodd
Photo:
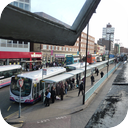
<instances>
[{"instance_id":1,"label":"red shop front with white lettering on its sign","mask_svg":"<svg viewBox=\"0 0 128 128\"><path fill-rule=\"evenodd\" d=\"M40 63L42 60L41 52L6 52L0 51L0 66L1 65L22 65L25 69L26 64L32 68L32 64Z\"/></svg>"}]
</instances>

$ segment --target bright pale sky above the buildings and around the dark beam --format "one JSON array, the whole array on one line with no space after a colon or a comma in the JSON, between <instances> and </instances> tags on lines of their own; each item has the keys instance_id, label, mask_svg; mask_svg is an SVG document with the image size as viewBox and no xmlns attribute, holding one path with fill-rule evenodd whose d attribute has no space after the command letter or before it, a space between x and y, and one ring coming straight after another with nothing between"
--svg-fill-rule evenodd
<instances>
[{"instance_id":1,"label":"bright pale sky above the buildings and around the dark beam","mask_svg":"<svg viewBox=\"0 0 128 128\"><path fill-rule=\"evenodd\" d=\"M31 12L44 12L72 25L86 0L31 0ZM128 48L128 0L101 0L89 21L95 43L108 23L115 28L114 43ZM83 30L87 33L86 28Z\"/></svg>"}]
</instances>

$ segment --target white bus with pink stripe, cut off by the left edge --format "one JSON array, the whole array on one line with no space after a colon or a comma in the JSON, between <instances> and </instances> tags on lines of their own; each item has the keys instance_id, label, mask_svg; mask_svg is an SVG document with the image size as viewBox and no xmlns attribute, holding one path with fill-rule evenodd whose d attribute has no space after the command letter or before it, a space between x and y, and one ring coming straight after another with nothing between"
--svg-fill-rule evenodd
<instances>
[{"instance_id":1,"label":"white bus with pink stripe, cut off by the left edge","mask_svg":"<svg viewBox=\"0 0 128 128\"><path fill-rule=\"evenodd\" d=\"M11 83L11 77L21 72L21 65L0 66L0 88L8 86Z\"/></svg>"}]
</instances>

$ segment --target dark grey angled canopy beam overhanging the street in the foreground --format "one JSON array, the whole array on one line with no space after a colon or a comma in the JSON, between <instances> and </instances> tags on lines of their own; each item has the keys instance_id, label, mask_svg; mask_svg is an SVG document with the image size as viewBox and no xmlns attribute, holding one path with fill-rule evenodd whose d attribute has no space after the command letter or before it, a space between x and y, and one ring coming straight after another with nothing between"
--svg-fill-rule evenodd
<instances>
[{"instance_id":1,"label":"dark grey angled canopy beam overhanging the street in the foreground","mask_svg":"<svg viewBox=\"0 0 128 128\"><path fill-rule=\"evenodd\" d=\"M60 46L74 45L100 1L86 0L73 25L67 28L0 0L0 38Z\"/></svg>"}]
</instances>

